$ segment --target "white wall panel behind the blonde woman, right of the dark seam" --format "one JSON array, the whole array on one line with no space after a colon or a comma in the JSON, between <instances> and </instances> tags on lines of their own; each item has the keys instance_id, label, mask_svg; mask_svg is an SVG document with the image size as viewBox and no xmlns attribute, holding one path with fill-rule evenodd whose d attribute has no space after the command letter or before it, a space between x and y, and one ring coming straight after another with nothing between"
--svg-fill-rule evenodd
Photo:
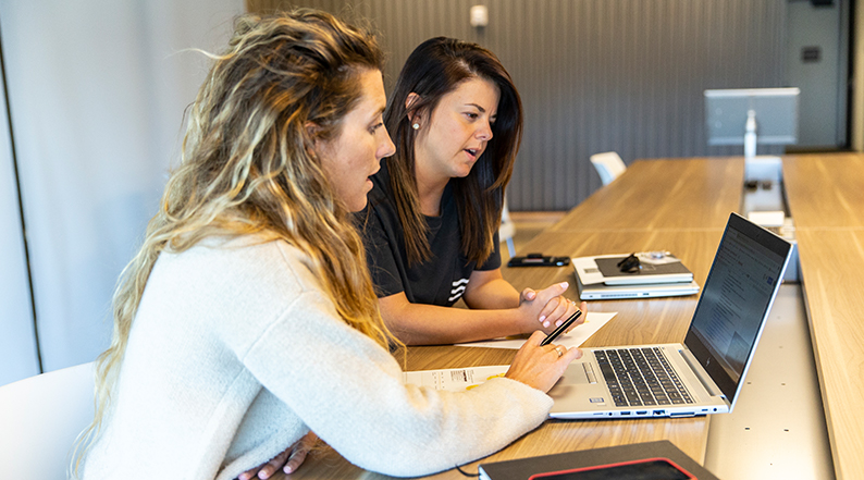
<instances>
[{"instance_id":1,"label":"white wall panel behind the blonde woman, right of the dark seam","mask_svg":"<svg viewBox=\"0 0 864 480\"><path fill-rule=\"evenodd\" d=\"M108 345L110 299L242 0L0 1L46 370Z\"/></svg>"}]
</instances>

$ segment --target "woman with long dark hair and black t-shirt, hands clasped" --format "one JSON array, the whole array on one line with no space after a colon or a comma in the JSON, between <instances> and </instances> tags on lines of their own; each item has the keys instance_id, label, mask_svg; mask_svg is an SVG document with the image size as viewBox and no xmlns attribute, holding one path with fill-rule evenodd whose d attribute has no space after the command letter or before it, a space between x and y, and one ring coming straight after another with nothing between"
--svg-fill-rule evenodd
<instances>
[{"instance_id":1,"label":"woman with long dark hair and black t-shirt, hands clasped","mask_svg":"<svg viewBox=\"0 0 864 480\"><path fill-rule=\"evenodd\" d=\"M406 344L458 343L550 332L572 315L566 282L520 294L501 274L497 230L522 106L498 59L453 38L424 41L384 123L396 153L373 177L360 223L391 331ZM470 309L443 309L460 297Z\"/></svg>"}]
</instances>

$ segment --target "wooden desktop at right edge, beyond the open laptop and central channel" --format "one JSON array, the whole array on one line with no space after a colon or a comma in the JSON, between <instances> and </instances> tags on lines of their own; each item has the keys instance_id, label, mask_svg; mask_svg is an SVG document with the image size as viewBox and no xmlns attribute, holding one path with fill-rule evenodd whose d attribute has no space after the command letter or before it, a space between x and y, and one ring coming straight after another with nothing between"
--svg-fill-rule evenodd
<instances>
[{"instance_id":1,"label":"wooden desktop at right edge, beyond the open laptop and central channel","mask_svg":"<svg viewBox=\"0 0 864 480\"><path fill-rule=\"evenodd\" d=\"M864 478L864 156L783 158L838 479Z\"/></svg>"}]
</instances>

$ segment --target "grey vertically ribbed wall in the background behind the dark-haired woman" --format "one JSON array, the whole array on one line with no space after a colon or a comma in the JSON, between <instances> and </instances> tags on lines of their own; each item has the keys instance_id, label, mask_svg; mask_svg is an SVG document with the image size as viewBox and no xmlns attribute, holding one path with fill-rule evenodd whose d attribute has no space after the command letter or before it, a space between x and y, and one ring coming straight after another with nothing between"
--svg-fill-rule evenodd
<instances>
[{"instance_id":1,"label":"grey vertically ribbed wall in the background behind the dark-haired woman","mask_svg":"<svg viewBox=\"0 0 864 480\"><path fill-rule=\"evenodd\" d=\"M277 7L277 2L255 1ZM785 0L318 0L283 2L371 19L388 52L387 91L411 50L446 35L481 44L524 103L513 210L566 210L600 186L592 153L742 155L708 148L703 90L782 86ZM483 29L469 25L489 7ZM251 8L251 7L250 7ZM764 151L763 151L764 149ZM780 147L760 147L778 153Z\"/></svg>"}]
</instances>

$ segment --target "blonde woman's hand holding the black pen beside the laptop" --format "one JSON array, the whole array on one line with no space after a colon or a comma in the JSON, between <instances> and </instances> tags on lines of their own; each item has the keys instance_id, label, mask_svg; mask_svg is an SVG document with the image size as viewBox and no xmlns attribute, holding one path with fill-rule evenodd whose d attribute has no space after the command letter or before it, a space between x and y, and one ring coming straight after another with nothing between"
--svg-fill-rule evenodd
<instances>
[{"instance_id":1,"label":"blonde woman's hand holding the black pen beside the laptop","mask_svg":"<svg viewBox=\"0 0 864 480\"><path fill-rule=\"evenodd\" d=\"M540 346L540 342L545 337L543 332L532 333L519 348L505 377L542 392L548 392L564 374L567 366L582 357L582 350L579 348L553 344Z\"/></svg>"}]
</instances>

